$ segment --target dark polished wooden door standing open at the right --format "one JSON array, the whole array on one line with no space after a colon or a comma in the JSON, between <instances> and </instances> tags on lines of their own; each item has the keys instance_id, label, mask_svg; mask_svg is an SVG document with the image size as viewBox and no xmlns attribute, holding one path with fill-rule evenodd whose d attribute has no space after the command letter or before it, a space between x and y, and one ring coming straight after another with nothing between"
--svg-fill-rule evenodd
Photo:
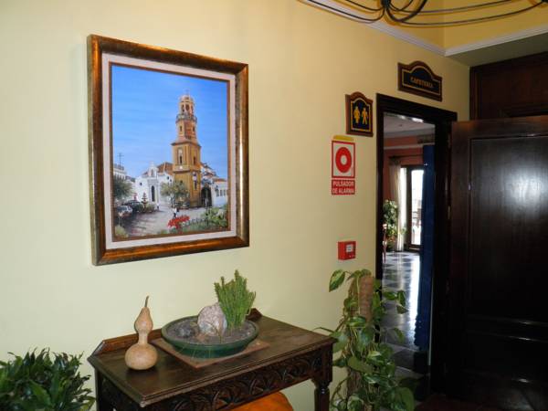
<instances>
[{"instance_id":1,"label":"dark polished wooden door standing open at the right","mask_svg":"<svg viewBox=\"0 0 548 411\"><path fill-rule=\"evenodd\" d=\"M452 132L448 391L548 410L548 116Z\"/></svg>"}]
</instances>

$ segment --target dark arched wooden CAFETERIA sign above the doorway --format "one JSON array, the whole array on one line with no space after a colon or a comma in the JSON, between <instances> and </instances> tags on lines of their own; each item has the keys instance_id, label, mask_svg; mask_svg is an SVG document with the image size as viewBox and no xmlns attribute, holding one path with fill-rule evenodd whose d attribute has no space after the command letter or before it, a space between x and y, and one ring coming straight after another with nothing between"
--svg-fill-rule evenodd
<instances>
[{"instance_id":1,"label":"dark arched wooden CAFETERIA sign above the doorway","mask_svg":"<svg viewBox=\"0 0 548 411\"><path fill-rule=\"evenodd\" d=\"M441 101L441 82L441 77L434 74L427 63L397 64L397 89L400 91Z\"/></svg>"}]
</instances>

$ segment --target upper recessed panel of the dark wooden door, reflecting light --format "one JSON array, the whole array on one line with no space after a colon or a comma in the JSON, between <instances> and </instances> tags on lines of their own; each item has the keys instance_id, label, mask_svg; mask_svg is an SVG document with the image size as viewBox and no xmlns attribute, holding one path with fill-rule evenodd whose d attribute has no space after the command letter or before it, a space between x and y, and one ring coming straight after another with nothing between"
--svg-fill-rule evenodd
<instances>
[{"instance_id":1,"label":"upper recessed panel of the dark wooden door, reflecting light","mask_svg":"<svg viewBox=\"0 0 548 411\"><path fill-rule=\"evenodd\" d=\"M468 313L548 322L548 136L471 140L469 173Z\"/></svg>"}]
</instances>

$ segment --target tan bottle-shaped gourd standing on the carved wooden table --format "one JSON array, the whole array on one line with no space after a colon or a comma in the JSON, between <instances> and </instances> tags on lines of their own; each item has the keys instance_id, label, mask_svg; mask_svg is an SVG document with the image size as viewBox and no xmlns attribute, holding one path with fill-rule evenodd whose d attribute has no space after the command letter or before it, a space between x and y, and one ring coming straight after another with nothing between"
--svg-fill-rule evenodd
<instances>
[{"instance_id":1,"label":"tan bottle-shaped gourd standing on the carved wooden table","mask_svg":"<svg viewBox=\"0 0 548 411\"><path fill-rule=\"evenodd\" d=\"M139 341L126 351L125 363L133 370L148 370L158 360L156 349L148 343L148 334L153 331L153 319L148 309L148 296L144 300L144 307L142 307L137 320L135 320L135 331L139 334Z\"/></svg>"}]
</instances>

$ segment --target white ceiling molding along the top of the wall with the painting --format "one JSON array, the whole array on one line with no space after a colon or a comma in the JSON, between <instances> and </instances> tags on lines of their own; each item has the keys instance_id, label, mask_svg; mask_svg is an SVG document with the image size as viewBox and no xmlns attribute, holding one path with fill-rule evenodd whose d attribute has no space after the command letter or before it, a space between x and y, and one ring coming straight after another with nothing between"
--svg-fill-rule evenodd
<instances>
[{"instance_id":1,"label":"white ceiling molding along the top of the wall with the painting","mask_svg":"<svg viewBox=\"0 0 548 411\"><path fill-rule=\"evenodd\" d=\"M410 35L406 33L405 31L402 31L399 28L396 28L395 26L390 26L380 21L377 21L375 23L364 23L363 21L357 18L353 18L353 16L348 16L346 13L352 13L355 16L363 16L365 18L368 18L368 16L365 15L364 13L359 12L351 7L341 5L335 0L299 0L299 1L307 5L312 5L314 7L321 8L322 10L326 10L335 15L346 17L355 22L362 23L364 26L374 28L375 30L381 31L387 35L398 38L400 40L404 40L407 43L411 43L411 44L414 44L415 46L425 48L440 56L445 56L446 50L444 47L439 47L435 44L427 42L426 40L423 40L420 37Z\"/></svg>"}]
</instances>

